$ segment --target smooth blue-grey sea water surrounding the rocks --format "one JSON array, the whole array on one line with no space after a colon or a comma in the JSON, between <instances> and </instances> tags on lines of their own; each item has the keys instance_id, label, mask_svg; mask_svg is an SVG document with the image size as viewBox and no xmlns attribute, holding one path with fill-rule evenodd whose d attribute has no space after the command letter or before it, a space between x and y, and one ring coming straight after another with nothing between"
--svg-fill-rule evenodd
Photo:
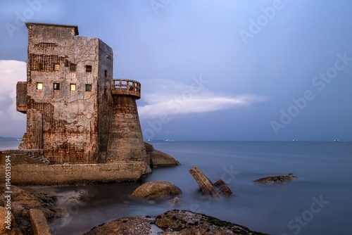
<instances>
[{"instance_id":1,"label":"smooth blue-grey sea water surrounding the rocks","mask_svg":"<svg viewBox=\"0 0 352 235\"><path fill-rule=\"evenodd\" d=\"M168 201L130 196L140 184L165 180L183 193L179 210L192 210L268 234L351 234L352 142L151 141L182 165L153 169L142 182L47 187L68 217L50 222L54 234L83 234L99 224L132 215L158 215ZM213 182L223 179L234 196L204 196L189 170L198 166ZM285 184L253 180L296 174ZM76 195L76 196L75 196ZM75 198L80 198L75 200Z\"/></svg>"}]
</instances>

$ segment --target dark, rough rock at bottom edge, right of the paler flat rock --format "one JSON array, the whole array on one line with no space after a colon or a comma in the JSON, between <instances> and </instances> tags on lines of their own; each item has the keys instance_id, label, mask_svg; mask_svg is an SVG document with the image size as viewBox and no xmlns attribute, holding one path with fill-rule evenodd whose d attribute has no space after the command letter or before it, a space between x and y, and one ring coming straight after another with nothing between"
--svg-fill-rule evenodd
<instances>
[{"instance_id":1,"label":"dark, rough rock at bottom edge, right of the paler flat rock","mask_svg":"<svg viewBox=\"0 0 352 235\"><path fill-rule=\"evenodd\" d=\"M260 234L247 227L218 220L215 217L187 211L169 210L156 217L155 224L164 234Z\"/></svg>"}]
</instances>

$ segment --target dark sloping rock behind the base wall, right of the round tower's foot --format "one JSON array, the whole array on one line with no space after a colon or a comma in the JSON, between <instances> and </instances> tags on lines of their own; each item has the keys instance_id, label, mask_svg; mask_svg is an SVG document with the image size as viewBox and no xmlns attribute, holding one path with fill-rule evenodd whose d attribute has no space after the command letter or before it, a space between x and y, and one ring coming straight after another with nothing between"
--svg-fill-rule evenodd
<instances>
[{"instance_id":1,"label":"dark sloping rock behind the base wall, right of the round tower's foot","mask_svg":"<svg viewBox=\"0 0 352 235\"><path fill-rule=\"evenodd\" d=\"M149 143L144 142L144 144L146 146L146 154L150 158L151 167L175 167L180 165L180 163L175 160L175 158L172 158L171 155L154 149L154 147Z\"/></svg>"}]
</instances>

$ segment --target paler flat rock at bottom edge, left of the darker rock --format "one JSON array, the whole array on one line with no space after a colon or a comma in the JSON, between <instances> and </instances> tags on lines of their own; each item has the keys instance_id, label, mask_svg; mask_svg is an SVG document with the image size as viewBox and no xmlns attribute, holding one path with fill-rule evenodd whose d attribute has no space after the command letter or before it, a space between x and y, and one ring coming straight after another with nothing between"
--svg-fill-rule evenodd
<instances>
[{"instance_id":1,"label":"paler flat rock at bottom edge, left of the darker rock","mask_svg":"<svg viewBox=\"0 0 352 235\"><path fill-rule=\"evenodd\" d=\"M163 230L159 229L154 224L155 217L146 216L133 216L123 217L119 220L101 224L99 227L93 228L91 231L83 235L149 235L158 234Z\"/></svg>"}]
</instances>

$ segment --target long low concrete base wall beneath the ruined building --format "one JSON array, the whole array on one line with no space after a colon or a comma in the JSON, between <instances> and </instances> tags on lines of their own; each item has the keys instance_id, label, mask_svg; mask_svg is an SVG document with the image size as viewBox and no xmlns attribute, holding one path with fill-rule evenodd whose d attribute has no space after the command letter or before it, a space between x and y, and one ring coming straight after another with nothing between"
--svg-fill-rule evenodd
<instances>
[{"instance_id":1,"label":"long low concrete base wall beneath the ruined building","mask_svg":"<svg viewBox=\"0 0 352 235\"><path fill-rule=\"evenodd\" d=\"M120 161L111 164L13 165L11 184L64 185L97 182L135 182L148 165L144 162ZM5 167L0 167L0 182L5 180Z\"/></svg>"}]
</instances>

